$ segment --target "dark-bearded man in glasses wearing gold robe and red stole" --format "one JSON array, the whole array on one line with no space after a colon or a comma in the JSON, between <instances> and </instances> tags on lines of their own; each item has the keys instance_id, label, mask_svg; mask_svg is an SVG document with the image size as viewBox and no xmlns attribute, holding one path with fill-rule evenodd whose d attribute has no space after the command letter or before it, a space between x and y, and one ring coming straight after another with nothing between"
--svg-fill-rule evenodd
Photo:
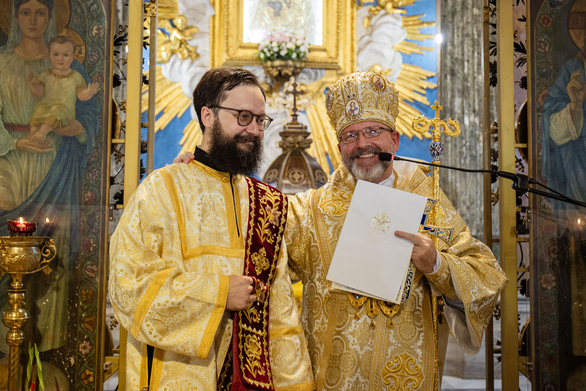
<instances>
[{"instance_id":1,"label":"dark-bearded man in glasses wearing gold robe and red stole","mask_svg":"<svg viewBox=\"0 0 586 391\"><path fill-rule=\"evenodd\" d=\"M250 178L265 93L247 70L193 91L195 160L138 187L110 242L109 293L128 333L128 390L315 389L282 240L287 198Z\"/></svg>"}]
</instances>

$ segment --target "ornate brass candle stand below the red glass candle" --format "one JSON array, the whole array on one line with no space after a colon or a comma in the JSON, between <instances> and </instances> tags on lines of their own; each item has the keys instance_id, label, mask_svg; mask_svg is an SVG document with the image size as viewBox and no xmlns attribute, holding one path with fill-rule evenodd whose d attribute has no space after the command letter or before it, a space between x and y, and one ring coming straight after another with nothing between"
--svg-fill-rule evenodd
<instances>
[{"instance_id":1,"label":"ornate brass candle stand below the red glass candle","mask_svg":"<svg viewBox=\"0 0 586 391\"><path fill-rule=\"evenodd\" d=\"M21 345L25 339L23 325L30 319L25 308L26 289L22 283L25 274L43 270L51 272L49 262L55 257L53 239L42 236L1 236L0 270L12 277L8 288L9 308L2 314L2 322L9 328L6 344L10 347L8 391L21 390L19 382Z\"/></svg>"}]
</instances>

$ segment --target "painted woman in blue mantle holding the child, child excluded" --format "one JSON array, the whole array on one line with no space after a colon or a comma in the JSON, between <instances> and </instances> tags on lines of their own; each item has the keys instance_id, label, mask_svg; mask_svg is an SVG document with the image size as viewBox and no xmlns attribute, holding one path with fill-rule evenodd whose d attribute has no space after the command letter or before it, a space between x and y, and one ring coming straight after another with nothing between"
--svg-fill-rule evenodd
<instances>
[{"instance_id":1,"label":"painted woman in blue mantle holding the child, child excluded","mask_svg":"<svg viewBox=\"0 0 586 391\"><path fill-rule=\"evenodd\" d=\"M47 45L57 36L56 11L53 0L13 0L8 40L0 47L0 220L22 216L55 222L52 229L39 227L35 233L55 240L53 273L35 275L28 292L33 305L29 324L40 351L66 344L70 268L80 253L81 182L94 152L100 114L95 96L77 100L75 117L53 128L45 141L27 138L39 102L28 76L52 68ZM73 60L70 67L90 83L79 61ZM0 226L0 234L8 235L6 226ZM0 311L5 300L0 298ZM0 324L2 333L6 328ZM6 351L5 342L0 349Z\"/></svg>"}]
</instances>

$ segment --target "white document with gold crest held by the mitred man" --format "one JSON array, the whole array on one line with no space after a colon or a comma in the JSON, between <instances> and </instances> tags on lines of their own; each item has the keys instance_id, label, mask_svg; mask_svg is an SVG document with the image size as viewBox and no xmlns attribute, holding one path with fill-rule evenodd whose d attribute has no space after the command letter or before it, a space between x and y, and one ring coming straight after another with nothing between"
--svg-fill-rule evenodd
<instances>
[{"instance_id":1,"label":"white document with gold crest held by the mitred man","mask_svg":"<svg viewBox=\"0 0 586 391\"><path fill-rule=\"evenodd\" d=\"M358 181L326 277L333 288L400 302L413 243L394 232L417 234L426 202L424 196Z\"/></svg>"}]
</instances>

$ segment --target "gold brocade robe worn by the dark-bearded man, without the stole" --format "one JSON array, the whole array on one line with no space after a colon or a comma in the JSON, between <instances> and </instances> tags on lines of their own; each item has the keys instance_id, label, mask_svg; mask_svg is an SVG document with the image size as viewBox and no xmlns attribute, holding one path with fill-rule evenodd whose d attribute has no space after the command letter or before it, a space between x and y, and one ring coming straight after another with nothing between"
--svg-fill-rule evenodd
<instances>
[{"instance_id":1,"label":"gold brocade robe worn by the dark-bearded man, without the stole","mask_svg":"<svg viewBox=\"0 0 586 391\"><path fill-rule=\"evenodd\" d=\"M153 172L132 196L111 239L108 287L128 330L128 390L216 389L233 330L228 276L243 274L249 202L242 176L230 180L195 161ZM274 273L272 382L314 390L284 241ZM155 347L149 384L147 345Z\"/></svg>"}]
</instances>

